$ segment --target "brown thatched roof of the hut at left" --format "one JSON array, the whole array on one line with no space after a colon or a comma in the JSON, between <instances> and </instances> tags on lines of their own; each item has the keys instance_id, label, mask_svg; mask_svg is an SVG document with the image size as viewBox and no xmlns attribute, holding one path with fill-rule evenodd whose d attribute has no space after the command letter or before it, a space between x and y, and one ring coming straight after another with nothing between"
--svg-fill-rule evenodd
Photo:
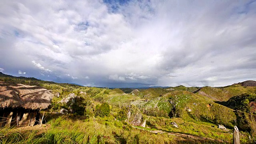
<instances>
[{"instance_id":1,"label":"brown thatched roof of the hut at left","mask_svg":"<svg viewBox=\"0 0 256 144\"><path fill-rule=\"evenodd\" d=\"M46 109L51 98L52 94L40 86L0 81L0 108Z\"/></svg>"}]
</instances>

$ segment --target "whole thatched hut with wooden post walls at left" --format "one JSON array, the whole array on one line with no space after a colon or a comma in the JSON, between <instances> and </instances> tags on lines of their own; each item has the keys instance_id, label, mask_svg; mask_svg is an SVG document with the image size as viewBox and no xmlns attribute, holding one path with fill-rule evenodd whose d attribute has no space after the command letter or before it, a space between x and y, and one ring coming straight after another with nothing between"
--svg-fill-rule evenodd
<instances>
[{"instance_id":1,"label":"whole thatched hut with wooden post walls at left","mask_svg":"<svg viewBox=\"0 0 256 144\"><path fill-rule=\"evenodd\" d=\"M40 86L0 81L0 127L40 124L40 110L51 104L52 94Z\"/></svg>"}]
</instances>

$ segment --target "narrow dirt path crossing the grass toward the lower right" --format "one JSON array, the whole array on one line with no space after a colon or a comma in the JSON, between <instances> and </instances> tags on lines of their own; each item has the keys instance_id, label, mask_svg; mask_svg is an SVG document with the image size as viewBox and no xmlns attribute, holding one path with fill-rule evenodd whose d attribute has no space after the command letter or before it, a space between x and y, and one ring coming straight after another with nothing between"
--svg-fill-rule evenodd
<instances>
[{"instance_id":1,"label":"narrow dirt path crossing the grass toward the lower right","mask_svg":"<svg viewBox=\"0 0 256 144\"><path fill-rule=\"evenodd\" d=\"M140 130L145 130L143 128L138 128L136 126L132 126L132 127L140 129ZM152 133L155 133L155 134L167 133L168 135L178 136L178 137L182 137L182 138L192 138L192 139L196 139L196 140L211 140L211 141L223 142L222 140L214 140L212 138L205 138L205 137L202 137L202 136L194 136L194 135L191 135L191 134L183 134L183 133L179 133L179 132L165 132L165 131L162 131L162 130L146 130L146 131L152 132Z\"/></svg>"}]
</instances>

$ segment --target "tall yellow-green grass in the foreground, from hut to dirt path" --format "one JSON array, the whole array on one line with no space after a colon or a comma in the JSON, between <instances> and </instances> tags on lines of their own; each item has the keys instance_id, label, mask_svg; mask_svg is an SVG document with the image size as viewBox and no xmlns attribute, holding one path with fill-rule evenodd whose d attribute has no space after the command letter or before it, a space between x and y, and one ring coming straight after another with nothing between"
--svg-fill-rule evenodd
<instances>
[{"instance_id":1,"label":"tall yellow-green grass in the foreground, from hut to dirt path","mask_svg":"<svg viewBox=\"0 0 256 144\"><path fill-rule=\"evenodd\" d=\"M72 120L65 116L51 120L50 128L20 131L19 128L0 129L1 144L165 144L176 143L167 134L140 131L108 118Z\"/></svg>"}]
</instances>

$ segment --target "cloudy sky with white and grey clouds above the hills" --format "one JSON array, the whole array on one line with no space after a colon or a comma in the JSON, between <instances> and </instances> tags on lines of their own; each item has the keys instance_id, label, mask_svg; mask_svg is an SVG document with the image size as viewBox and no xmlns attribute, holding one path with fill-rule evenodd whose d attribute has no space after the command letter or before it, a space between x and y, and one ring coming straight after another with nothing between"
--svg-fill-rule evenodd
<instances>
[{"instance_id":1,"label":"cloudy sky with white and grey clouds above the hills","mask_svg":"<svg viewBox=\"0 0 256 144\"><path fill-rule=\"evenodd\" d=\"M256 80L256 1L1 0L0 72L102 87Z\"/></svg>"}]
</instances>

